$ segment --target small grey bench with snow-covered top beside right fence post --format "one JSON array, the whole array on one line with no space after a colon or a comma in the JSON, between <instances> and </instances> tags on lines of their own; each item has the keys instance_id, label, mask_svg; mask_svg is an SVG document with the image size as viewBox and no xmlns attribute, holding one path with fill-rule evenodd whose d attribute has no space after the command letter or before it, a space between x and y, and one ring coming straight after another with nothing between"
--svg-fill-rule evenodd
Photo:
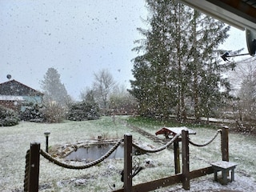
<instances>
[{"instance_id":1,"label":"small grey bench with snow-covered top beside right fence post","mask_svg":"<svg viewBox=\"0 0 256 192\"><path fill-rule=\"evenodd\" d=\"M218 171L222 171L222 184L226 185L228 182L228 175L229 171L231 170L231 181L234 181L234 168L238 164L234 162L226 162L226 161L220 161L220 162L213 162L211 165L214 168L214 181L218 182Z\"/></svg>"}]
</instances>

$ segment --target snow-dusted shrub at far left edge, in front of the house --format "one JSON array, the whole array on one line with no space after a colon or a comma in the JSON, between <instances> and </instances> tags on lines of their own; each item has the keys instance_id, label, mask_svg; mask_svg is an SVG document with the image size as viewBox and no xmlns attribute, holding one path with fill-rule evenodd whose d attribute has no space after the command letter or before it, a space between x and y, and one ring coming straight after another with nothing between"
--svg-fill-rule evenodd
<instances>
[{"instance_id":1,"label":"snow-dusted shrub at far left edge, in front of the house","mask_svg":"<svg viewBox=\"0 0 256 192\"><path fill-rule=\"evenodd\" d=\"M4 106L0 106L0 126L15 126L18 125L20 118L18 113Z\"/></svg>"}]
</instances>

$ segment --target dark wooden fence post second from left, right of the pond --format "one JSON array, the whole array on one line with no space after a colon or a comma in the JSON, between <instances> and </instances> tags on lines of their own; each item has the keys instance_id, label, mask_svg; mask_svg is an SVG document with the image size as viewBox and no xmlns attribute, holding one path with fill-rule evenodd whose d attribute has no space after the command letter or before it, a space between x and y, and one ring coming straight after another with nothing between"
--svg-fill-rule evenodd
<instances>
[{"instance_id":1,"label":"dark wooden fence post second from left, right of the pond","mask_svg":"<svg viewBox=\"0 0 256 192\"><path fill-rule=\"evenodd\" d=\"M124 191L132 191L132 135L124 135Z\"/></svg>"}]
</instances>

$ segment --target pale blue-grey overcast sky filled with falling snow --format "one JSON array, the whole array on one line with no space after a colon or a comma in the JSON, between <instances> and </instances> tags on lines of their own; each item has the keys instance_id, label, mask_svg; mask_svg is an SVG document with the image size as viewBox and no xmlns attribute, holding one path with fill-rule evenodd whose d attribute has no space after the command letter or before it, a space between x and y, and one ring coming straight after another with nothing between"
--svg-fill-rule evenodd
<instances>
[{"instance_id":1,"label":"pale blue-grey overcast sky filled with falling snow","mask_svg":"<svg viewBox=\"0 0 256 192\"><path fill-rule=\"evenodd\" d=\"M108 69L129 86L137 27L147 10L143 0L0 0L0 82L7 74L36 90L50 67L78 99L94 73ZM245 32L233 30L223 47L245 48Z\"/></svg>"}]
</instances>

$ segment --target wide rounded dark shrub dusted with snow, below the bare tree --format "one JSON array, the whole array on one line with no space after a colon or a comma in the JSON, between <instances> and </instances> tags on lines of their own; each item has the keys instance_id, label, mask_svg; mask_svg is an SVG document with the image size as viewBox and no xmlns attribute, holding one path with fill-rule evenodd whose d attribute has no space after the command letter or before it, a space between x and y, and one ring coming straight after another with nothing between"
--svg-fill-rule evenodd
<instances>
[{"instance_id":1,"label":"wide rounded dark shrub dusted with snow, below the bare tree","mask_svg":"<svg viewBox=\"0 0 256 192\"><path fill-rule=\"evenodd\" d=\"M71 121L98 119L98 110L98 105L94 102L77 102L70 105L67 113L67 119Z\"/></svg>"}]
</instances>

